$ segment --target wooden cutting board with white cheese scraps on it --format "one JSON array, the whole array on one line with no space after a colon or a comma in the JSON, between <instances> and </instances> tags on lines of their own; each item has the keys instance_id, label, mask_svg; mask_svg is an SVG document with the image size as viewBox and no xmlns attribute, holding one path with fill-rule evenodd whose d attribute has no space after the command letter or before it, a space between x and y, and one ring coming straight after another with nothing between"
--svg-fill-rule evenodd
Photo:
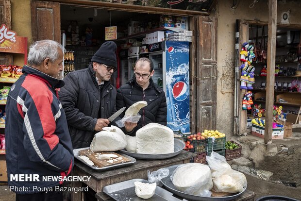
<instances>
[{"instance_id":1,"label":"wooden cutting board with white cheese scraps on it","mask_svg":"<svg viewBox=\"0 0 301 201\"><path fill-rule=\"evenodd\" d=\"M118 157L122 157L122 160L118 160L116 158L116 160L113 160L113 163L108 163L107 161L108 160L99 160L98 159L98 155L99 154L110 154L110 153L113 153L113 154L116 154ZM126 163L126 162L130 162L131 159L129 158L126 158L118 153L115 153L115 152L93 152L91 151L90 149L87 149L87 150L80 150L79 151L79 155L81 156L86 156L88 157L93 163L95 166L97 166L98 168L103 168L103 167L107 167L107 166L112 166L112 165L116 165L116 164L120 164L120 163Z\"/></svg>"}]
</instances>

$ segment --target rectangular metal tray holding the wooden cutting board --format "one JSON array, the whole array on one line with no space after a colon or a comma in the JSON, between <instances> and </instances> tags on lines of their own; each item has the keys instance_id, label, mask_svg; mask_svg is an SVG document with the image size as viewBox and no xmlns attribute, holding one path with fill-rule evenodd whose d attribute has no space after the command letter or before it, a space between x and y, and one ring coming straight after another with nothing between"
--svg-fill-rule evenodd
<instances>
[{"instance_id":1,"label":"rectangular metal tray holding the wooden cutting board","mask_svg":"<svg viewBox=\"0 0 301 201\"><path fill-rule=\"evenodd\" d=\"M95 169L96 171L99 171L99 172L107 171L107 170L110 170L110 169L117 169L117 168L122 168L122 167L126 167L126 166L131 166L134 163L136 163L136 159L134 159L133 157L128 156L128 155L126 155L124 153L119 153L118 151L116 151L118 154L120 154L120 155L122 155L124 157L127 157L128 159L131 159L131 161L125 162L125 163L119 163L119 164L112 165L112 166L102 167L102 168L98 168L96 166L90 166L89 164L87 164L86 162L84 162L82 159L79 158L79 151L80 150L86 150L86 149L90 149L90 148L86 147L86 148L80 148L80 149L73 150L74 158L78 159L79 161L81 161L85 165L87 165L90 168Z\"/></svg>"}]
</instances>

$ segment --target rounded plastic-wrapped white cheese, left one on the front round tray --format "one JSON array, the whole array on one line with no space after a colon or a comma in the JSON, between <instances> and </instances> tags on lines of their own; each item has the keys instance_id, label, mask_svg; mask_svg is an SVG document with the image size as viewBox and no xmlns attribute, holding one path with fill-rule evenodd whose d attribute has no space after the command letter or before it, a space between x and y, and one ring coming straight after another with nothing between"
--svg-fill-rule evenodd
<instances>
[{"instance_id":1,"label":"rounded plastic-wrapped white cheese, left one on the front round tray","mask_svg":"<svg viewBox=\"0 0 301 201\"><path fill-rule=\"evenodd\" d=\"M178 190L184 193L204 197L211 196L210 189L213 187L213 183L210 168L206 165L200 163L181 165L174 170L170 180Z\"/></svg>"}]
</instances>

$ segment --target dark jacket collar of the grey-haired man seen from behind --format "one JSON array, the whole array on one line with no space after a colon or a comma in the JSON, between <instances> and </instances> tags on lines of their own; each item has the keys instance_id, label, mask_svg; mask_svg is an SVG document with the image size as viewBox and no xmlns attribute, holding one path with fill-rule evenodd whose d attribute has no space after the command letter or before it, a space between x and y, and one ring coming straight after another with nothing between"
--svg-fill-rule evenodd
<instances>
[{"instance_id":1,"label":"dark jacket collar of the grey-haired man seen from behind","mask_svg":"<svg viewBox=\"0 0 301 201\"><path fill-rule=\"evenodd\" d=\"M50 75L47 75L46 73L43 73L43 72L39 71L38 69L35 69L35 68L27 66L27 65L23 66L22 73L23 74L31 74L31 75L34 75L36 77L39 77L44 82L50 84L50 86L52 88L61 88L65 85L63 80L51 77Z\"/></svg>"}]
</instances>

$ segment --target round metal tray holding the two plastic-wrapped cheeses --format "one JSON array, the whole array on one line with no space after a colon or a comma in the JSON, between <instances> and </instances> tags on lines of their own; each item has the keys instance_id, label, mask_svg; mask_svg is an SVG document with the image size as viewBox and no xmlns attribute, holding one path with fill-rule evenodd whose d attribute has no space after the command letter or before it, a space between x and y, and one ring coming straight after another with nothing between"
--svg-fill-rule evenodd
<instances>
[{"instance_id":1,"label":"round metal tray holding the two plastic-wrapped cheeses","mask_svg":"<svg viewBox=\"0 0 301 201\"><path fill-rule=\"evenodd\" d=\"M180 165L174 165L174 166L167 167L169 169L169 175L167 177L161 179L161 182L168 191L170 191L182 198L185 198L185 199L188 199L191 201L232 201L235 198L237 198L238 196L240 196L247 189L247 186L246 186L242 192L234 194L232 196L225 196L225 197L203 197L203 196L196 196L193 194L184 193L182 191L177 190L176 186L174 186L174 184L172 184L172 182L170 180L170 176L172 175L173 171Z\"/></svg>"}]
</instances>

